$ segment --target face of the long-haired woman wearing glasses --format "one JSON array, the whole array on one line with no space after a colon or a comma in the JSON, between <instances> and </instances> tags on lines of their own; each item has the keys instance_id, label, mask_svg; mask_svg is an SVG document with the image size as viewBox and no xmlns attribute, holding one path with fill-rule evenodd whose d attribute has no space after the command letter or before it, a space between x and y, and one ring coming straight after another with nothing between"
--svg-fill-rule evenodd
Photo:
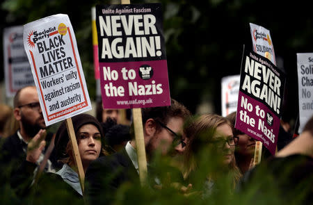
<instances>
[{"instance_id":1,"label":"face of the long-haired woman wearing glasses","mask_svg":"<svg viewBox=\"0 0 313 205\"><path fill-rule=\"evenodd\" d=\"M213 136L213 140L217 142L216 146L222 151L223 163L225 165L229 165L234 159L235 146L234 141L232 141L233 138L232 128L228 124L218 126ZM230 145L226 140L230 142Z\"/></svg>"}]
</instances>

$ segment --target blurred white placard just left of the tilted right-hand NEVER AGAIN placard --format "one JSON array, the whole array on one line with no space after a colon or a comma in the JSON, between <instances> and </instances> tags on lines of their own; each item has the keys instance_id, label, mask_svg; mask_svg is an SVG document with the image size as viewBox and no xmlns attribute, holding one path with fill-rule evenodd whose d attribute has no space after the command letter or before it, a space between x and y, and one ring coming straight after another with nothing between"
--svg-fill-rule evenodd
<instances>
[{"instance_id":1,"label":"blurred white placard just left of the tilted right-hand NEVER AGAIN placard","mask_svg":"<svg viewBox=\"0 0 313 205\"><path fill-rule=\"evenodd\" d=\"M222 78L222 116L236 112L238 103L240 75Z\"/></svg>"}]
</instances>

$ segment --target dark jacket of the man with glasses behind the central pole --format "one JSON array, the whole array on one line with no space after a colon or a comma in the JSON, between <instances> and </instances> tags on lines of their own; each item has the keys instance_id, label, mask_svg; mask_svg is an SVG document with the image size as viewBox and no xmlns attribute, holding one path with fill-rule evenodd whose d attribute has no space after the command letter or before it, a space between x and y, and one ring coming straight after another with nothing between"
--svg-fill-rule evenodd
<instances>
[{"instance_id":1,"label":"dark jacket of the man with glasses behind the central pole","mask_svg":"<svg viewBox=\"0 0 313 205\"><path fill-rule=\"evenodd\" d=\"M90 204L111 204L123 183L130 183L132 188L141 186L139 174L125 148L90 163L85 179L85 196ZM182 172L177 167L159 163L147 167L147 188L152 191L155 185L165 187L183 181Z\"/></svg>"}]
</instances>

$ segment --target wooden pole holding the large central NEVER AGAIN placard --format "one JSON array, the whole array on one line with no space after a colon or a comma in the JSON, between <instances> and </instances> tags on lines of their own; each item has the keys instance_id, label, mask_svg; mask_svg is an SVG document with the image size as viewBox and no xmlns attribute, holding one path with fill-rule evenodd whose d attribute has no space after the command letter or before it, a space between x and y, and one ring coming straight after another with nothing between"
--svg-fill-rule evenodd
<instances>
[{"instance_id":1,"label":"wooden pole holding the large central NEVER AGAIN placard","mask_svg":"<svg viewBox=\"0 0 313 205\"><path fill-rule=\"evenodd\" d=\"M121 0L121 4L129 3L129 0ZM147 158L145 156L145 141L143 139L143 118L141 116L141 108L133 108L133 117L138 156L139 179L141 181L141 185L143 186L147 179Z\"/></svg>"}]
</instances>

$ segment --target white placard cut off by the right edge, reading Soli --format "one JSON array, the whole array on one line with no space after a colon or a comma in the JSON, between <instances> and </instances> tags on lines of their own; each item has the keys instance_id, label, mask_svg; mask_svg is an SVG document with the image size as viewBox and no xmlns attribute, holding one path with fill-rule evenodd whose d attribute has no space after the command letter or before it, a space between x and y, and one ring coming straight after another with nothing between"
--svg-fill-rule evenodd
<instances>
[{"instance_id":1,"label":"white placard cut off by the right edge, reading Soli","mask_svg":"<svg viewBox=\"0 0 313 205\"><path fill-rule=\"evenodd\" d=\"M303 131L307 120L313 115L313 53L297 54L299 128Z\"/></svg>"}]
</instances>

